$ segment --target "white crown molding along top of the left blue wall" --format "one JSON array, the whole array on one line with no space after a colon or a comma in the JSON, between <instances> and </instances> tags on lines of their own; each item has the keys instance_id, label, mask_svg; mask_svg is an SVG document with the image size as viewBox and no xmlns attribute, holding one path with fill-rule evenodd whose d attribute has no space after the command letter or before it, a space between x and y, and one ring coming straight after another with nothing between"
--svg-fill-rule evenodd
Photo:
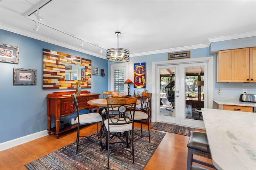
<instances>
[{"instance_id":1,"label":"white crown molding along top of the left blue wall","mask_svg":"<svg viewBox=\"0 0 256 170\"><path fill-rule=\"evenodd\" d=\"M6 30L6 31L14 32L16 34L20 34L22 36L34 38L36 40L40 40L40 41L47 42L47 43L52 43L54 45L59 45L61 47L65 47L65 48L68 48L68 49L73 49L75 51L79 51L79 52L82 52L82 53L86 53L86 54L89 54L89 55L93 55L93 56L96 56L96 57L99 57L99 58L106 59L106 56L104 56L104 55L100 55L98 53L93 53L91 51L87 51L85 49L81 49L79 47L75 47L73 45L69 45L69 44L66 44L66 43L58 42L56 40L52 40L50 38L39 36L37 34L33 34L31 32L28 32L28 31L25 31L25 30L21 30L21 29L18 29L16 27L8 26L8 25L3 24L3 23L0 23L0 28L3 29L3 30Z\"/></svg>"}]
</instances>

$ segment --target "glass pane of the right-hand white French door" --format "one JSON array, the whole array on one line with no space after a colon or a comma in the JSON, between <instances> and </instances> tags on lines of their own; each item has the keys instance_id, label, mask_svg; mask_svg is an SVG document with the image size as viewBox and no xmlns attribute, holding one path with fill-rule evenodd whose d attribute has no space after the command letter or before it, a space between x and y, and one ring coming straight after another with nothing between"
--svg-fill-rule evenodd
<instances>
[{"instance_id":1,"label":"glass pane of the right-hand white French door","mask_svg":"<svg viewBox=\"0 0 256 170\"><path fill-rule=\"evenodd\" d=\"M204 108L204 67L186 67L186 119L202 121Z\"/></svg>"}]
</instances>

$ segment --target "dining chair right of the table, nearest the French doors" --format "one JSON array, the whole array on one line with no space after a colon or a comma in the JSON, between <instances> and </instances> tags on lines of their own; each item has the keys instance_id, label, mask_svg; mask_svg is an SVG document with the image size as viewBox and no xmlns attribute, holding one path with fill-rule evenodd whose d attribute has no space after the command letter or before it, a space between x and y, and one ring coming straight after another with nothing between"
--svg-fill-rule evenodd
<instances>
[{"instance_id":1,"label":"dining chair right of the table, nearest the French doors","mask_svg":"<svg viewBox=\"0 0 256 170\"><path fill-rule=\"evenodd\" d=\"M151 98L152 98L152 93L142 92L142 100L141 100L140 109L136 109L135 114L134 114L134 121L140 121L140 129L137 130L135 133L138 136L141 136L141 137L148 137L149 138L149 143L150 143L149 120L151 119L151 117L150 117ZM147 122L148 134L143 133L142 121Z\"/></svg>"}]
</instances>

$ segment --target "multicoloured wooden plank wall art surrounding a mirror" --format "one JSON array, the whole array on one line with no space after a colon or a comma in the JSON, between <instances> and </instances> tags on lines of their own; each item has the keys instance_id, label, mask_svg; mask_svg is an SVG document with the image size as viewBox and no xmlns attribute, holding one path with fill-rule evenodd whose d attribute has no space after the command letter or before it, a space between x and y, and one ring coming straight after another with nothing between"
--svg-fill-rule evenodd
<instances>
[{"instance_id":1,"label":"multicoloured wooden plank wall art surrounding a mirror","mask_svg":"<svg viewBox=\"0 0 256 170\"><path fill-rule=\"evenodd\" d=\"M92 87L92 61L49 49L43 49L43 89L76 89L80 81L82 89ZM83 66L81 80L66 80L65 65ZM80 75L81 76L81 75Z\"/></svg>"}]
</instances>

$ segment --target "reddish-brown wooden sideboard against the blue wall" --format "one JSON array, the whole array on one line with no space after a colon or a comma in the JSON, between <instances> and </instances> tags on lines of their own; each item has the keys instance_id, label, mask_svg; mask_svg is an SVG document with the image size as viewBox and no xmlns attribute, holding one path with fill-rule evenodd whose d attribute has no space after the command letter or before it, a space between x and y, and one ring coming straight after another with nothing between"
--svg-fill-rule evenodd
<instances>
[{"instance_id":1,"label":"reddish-brown wooden sideboard against the blue wall","mask_svg":"<svg viewBox=\"0 0 256 170\"><path fill-rule=\"evenodd\" d=\"M75 91L54 92L47 95L47 115L48 115L48 134L51 132L56 134L56 138L59 138L59 134L67 130L77 128L76 125L65 124L64 128L60 129L60 117L72 115L75 111L73 107L73 101L71 94ZM79 109L88 109L91 113L92 109L96 106L88 105L87 101L92 99L98 99L100 94L91 94L90 91L81 91L80 95L76 95ZM52 116L56 118L56 127L51 128Z\"/></svg>"}]
</instances>

